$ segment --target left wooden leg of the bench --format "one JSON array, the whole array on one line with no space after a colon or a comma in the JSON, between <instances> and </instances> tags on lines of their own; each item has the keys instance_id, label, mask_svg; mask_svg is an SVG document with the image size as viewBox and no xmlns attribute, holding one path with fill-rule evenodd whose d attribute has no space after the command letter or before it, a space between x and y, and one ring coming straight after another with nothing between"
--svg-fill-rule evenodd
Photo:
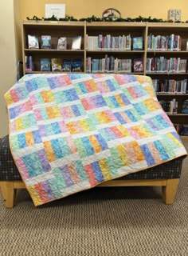
<instances>
[{"instance_id":1,"label":"left wooden leg of the bench","mask_svg":"<svg viewBox=\"0 0 188 256\"><path fill-rule=\"evenodd\" d=\"M6 208L13 208L15 205L16 189L14 182L0 182L2 190L2 198L5 202Z\"/></svg>"}]
</instances>

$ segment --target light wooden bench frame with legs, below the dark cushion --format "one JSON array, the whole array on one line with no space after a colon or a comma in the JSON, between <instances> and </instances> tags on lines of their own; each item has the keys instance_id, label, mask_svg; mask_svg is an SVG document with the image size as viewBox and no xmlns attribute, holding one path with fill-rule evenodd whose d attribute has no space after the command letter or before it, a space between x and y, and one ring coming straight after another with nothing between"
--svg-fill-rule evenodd
<instances>
[{"instance_id":1,"label":"light wooden bench frame with legs, below the dark cushion","mask_svg":"<svg viewBox=\"0 0 188 256\"><path fill-rule=\"evenodd\" d=\"M151 180L112 180L103 182L98 186L162 186L163 201L166 203L166 205L172 205L178 190L178 182L179 178ZM18 189L25 189L25 184L22 181L3 181L0 182L0 187L6 208L13 208L16 203L16 191Z\"/></svg>"}]
</instances>

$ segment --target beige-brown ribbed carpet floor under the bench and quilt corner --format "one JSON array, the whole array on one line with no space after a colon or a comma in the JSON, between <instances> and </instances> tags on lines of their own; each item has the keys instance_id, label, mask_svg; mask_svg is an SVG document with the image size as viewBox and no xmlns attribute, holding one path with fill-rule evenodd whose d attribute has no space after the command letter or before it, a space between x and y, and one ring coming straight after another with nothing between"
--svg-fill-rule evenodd
<instances>
[{"instance_id":1,"label":"beige-brown ribbed carpet floor under the bench and quilt corner","mask_svg":"<svg viewBox=\"0 0 188 256\"><path fill-rule=\"evenodd\" d=\"M13 210L0 194L0 255L186 256L187 188L188 158L173 206L158 187L95 188L37 208L19 190Z\"/></svg>"}]
</instances>

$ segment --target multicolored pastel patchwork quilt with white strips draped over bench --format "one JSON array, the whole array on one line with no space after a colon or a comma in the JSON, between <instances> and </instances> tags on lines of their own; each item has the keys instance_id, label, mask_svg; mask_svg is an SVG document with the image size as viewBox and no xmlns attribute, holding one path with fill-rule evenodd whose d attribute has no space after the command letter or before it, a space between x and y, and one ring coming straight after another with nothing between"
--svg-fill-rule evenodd
<instances>
[{"instance_id":1,"label":"multicolored pastel patchwork quilt with white strips draped over bench","mask_svg":"<svg viewBox=\"0 0 188 256\"><path fill-rule=\"evenodd\" d=\"M29 74L5 98L35 206L186 154L147 76Z\"/></svg>"}]
</instances>

